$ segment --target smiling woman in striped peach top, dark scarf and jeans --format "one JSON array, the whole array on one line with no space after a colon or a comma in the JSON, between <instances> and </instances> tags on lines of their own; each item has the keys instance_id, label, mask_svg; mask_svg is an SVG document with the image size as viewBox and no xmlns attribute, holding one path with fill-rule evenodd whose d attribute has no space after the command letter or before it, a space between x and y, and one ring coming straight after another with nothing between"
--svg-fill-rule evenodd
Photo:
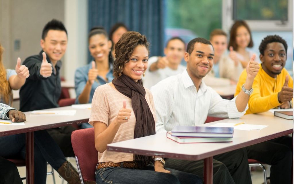
<instances>
[{"instance_id":1,"label":"smiling woman in striped peach top, dark scarf and jeans","mask_svg":"<svg viewBox=\"0 0 294 184\"><path fill-rule=\"evenodd\" d=\"M112 142L155 134L153 98L141 80L148 67L146 37L138 32L124 33L115 45L115 54L115 78L95 90L89 119L98 151L96 183L202 183L196 175L164 168L161 157L106 150Z\"/></svg>"}]
</instances>

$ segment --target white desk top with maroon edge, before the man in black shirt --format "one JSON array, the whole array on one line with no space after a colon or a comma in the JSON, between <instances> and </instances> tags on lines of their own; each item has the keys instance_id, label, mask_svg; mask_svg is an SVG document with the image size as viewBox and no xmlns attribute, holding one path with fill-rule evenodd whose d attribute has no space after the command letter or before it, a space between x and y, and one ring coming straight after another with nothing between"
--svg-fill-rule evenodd
<instances>
[{"instance_id":1,"label":"white desk top with maroon edge, before the man in black shirt","mask_svg":"<svg viewBox=\"0 0 294 184\"><path fill-rule=\"evenodd\" d=\"M76 110L76 114L74 116L36 115L30 114L30 112L25 112L25 125L1 125L0 136L44 130L65 125L85 123L88 122L91 113L91 110L89 109L74 109L71 106L58 107L46 110Z\"/></svg>"}]
</instances>

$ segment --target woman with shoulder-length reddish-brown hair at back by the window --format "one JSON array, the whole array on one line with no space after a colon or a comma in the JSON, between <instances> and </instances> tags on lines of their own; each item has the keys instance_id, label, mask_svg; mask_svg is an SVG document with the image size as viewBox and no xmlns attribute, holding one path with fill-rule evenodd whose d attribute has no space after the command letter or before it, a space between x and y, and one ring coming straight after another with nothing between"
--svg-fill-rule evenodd
<instances>
[{"instance_id":1,"label":"woman with shoulder-length reddish-brown hair at back by the window","mask_svg":"<svg viewBox=\"0 0 294 184\"><path fill-rule=\"evenodd\" d=\"M228 44L229 56L235 62L235 67L245 68L247 66L248 61L255 54L247 50L252 47L253 41L249 26L243 20L235 21L230 29Z\"/></svg>"}]
</instances>

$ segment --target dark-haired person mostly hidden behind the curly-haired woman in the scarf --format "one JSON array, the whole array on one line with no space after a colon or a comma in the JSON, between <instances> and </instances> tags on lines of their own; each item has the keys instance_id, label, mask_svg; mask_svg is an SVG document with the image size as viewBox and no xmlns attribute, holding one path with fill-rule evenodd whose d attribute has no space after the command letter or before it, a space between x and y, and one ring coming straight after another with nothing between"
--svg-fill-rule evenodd
<instances>
[{"instance_id":1,"label":"dark-haired person mostly hidden behind the curly-haired woman in the scarf","mask_svg":"<svg viewBox=\"0 0 294 184\"><path fill-rule=\"evenodd\" d=\"M121 38L121 35L123 35L125 32L129 31L127 26L121 22L118 22L114 24L110 31L109 31L109 40L111 40L111 55L113 57L113 60L115 60L115 44L118 42L118 40Z\"/></svg>"}]
</instances>

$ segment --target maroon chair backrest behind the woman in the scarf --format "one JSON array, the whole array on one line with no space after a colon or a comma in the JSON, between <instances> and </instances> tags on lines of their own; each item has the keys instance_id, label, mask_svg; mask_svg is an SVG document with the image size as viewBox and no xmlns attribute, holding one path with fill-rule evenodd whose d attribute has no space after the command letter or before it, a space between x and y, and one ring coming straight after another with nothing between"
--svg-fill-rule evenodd
<instances>
[{"instance_id":1,"label":"maroon chair backrest behind the woman in the scarf","mask_svg":"<svg viewBox=\"0 0 294 184\"><path fill-rule=\"evenodd\" d=\"M78 157L83 179L95 181L95 169L98 164L98 152L95 148L94 128L75 130L71 134L74 154Z\"/></svg>"}]
</instances>

